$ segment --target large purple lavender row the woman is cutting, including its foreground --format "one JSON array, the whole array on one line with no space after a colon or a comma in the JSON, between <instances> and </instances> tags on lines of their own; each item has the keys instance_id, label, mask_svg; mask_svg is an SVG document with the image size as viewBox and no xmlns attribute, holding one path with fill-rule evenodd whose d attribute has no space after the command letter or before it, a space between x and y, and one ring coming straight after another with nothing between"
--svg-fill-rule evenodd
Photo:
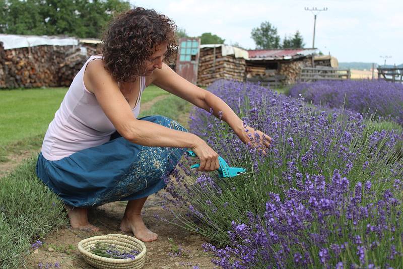
<instances>
[{"instance_id":1,"label":"large purple lavender row the woman is cutting, including its foreground","mask_svg":"<svg viewBox=\"0 0 403 269\"><path fill-rule=\"evenodd\" d=\"M317 112L301 99L286 98L259 85L220 81L209 90L243 118L244 126L273 138L264 155L259 148L243 145L226 124L204 110L191 113L192 132L204 137L231 166L253 171L218 178L216 172L189 170L196 159L187 157L174 171L175 180L168 182L165 198L182 209L177 213L168 208L176 224L210 238L218 248L206 247L217 255L217 264L228 268L288 267L301 260L310 267L334 267L336 261L369 266L369 259L360 261L363 248L364 253L369 251L367 241L375 238L374 234L365 237L368 220L372 226L388 226L377 229L389 229L388 235L395 239L386 244L388 236L379 235L374 251L390 252L393 240L401 238L401 207L395 200L393 207L376 205L389 203L385 195L400 197L394 197L397 194L390 189L399 189L393 184L400 186L403 161L390 149L403 140L403 133L382 130L365 134L368 129L361 114L350 113L344 121L338 113ZM253 129L247 131L254 138ZM357 188L361 186L363 193L363 184L371 194L358 198ZM270 204L275 208L267 206ZM367 217L362 216L360 207L367 207ZM277 241L271 238L273 233L279 237ZM352 238L358 235L363 241L357 244L361 252L353 249ZM336 257L330 251L332 244L343 245L345 250ZM403 251L401 244L394 244L394 248ZM273 257L274 253L278 256ZM371 259L376 265L384 261Z\"/></svg>"}]
</instances>

